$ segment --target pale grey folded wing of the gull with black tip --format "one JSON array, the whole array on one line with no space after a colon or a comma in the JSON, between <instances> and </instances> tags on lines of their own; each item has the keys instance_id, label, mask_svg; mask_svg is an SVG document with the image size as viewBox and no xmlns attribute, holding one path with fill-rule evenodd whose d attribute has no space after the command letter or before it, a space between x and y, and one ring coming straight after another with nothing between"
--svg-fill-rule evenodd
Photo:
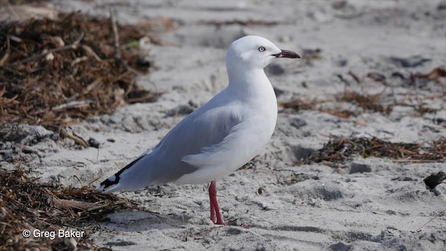
<instances>
[{"instance_id":1,"label":"pale grey folded wing of the gull with black tip","mask_svg":"<svg viewBox=\"0 0 446 251\"><path fill-rule=\"evenodd\" d=\"M154 149L102 182L100 189L107 192L138 190L147 185L174 182L196 171L199 167L183 158L222 142L242 121L238 108L229 105L197 109L172 128Z\"/></svg>"}]
</instances>

